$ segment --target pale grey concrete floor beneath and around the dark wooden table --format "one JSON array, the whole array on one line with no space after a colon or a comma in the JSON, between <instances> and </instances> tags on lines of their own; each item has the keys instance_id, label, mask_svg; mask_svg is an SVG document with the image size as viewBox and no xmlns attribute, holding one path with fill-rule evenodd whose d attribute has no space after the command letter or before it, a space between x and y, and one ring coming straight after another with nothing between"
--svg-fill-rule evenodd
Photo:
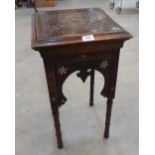
<instances>
[{"instance_id":1,"label":"pale grey concrete floor beneath and around the dark wooden table","mask_svg":"<svg viewBox=\"0 0 155 155\"><path fill-rule=\"evenodd\" d=\"M139 13L135 0L125 4L120 15L108 8L108 0L59 0L49 8L100 7L133 35L121 49L110 138L103 139L106 99L100 91L104 79L96 72L92 108L90 79L82 83L74 73L63 87L68 101L60 108L62 150L56 147L43 62L39 53L31 49L34 10L16 10L16 155L138 155Z\"/></svg>"}]
</instances>

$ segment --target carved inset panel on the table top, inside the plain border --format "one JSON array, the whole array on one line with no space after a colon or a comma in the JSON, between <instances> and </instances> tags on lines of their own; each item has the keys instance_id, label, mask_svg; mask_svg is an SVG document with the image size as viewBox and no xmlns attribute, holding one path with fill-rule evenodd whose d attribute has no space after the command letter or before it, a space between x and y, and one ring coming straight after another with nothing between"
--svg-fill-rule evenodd
<instances>
[{"instance_id":1,"label":"carved inset panel on the table top, inside the plain border","mask_svg":"<svg viewBox=\"0 0 155 155\"><path fill-rule=\"evenodd\" d=\"M124 31L102 10L95 8L38 13L36 23L38 41L81 37L86 34L114 34Z\"/></svg>"}]
</instances>

